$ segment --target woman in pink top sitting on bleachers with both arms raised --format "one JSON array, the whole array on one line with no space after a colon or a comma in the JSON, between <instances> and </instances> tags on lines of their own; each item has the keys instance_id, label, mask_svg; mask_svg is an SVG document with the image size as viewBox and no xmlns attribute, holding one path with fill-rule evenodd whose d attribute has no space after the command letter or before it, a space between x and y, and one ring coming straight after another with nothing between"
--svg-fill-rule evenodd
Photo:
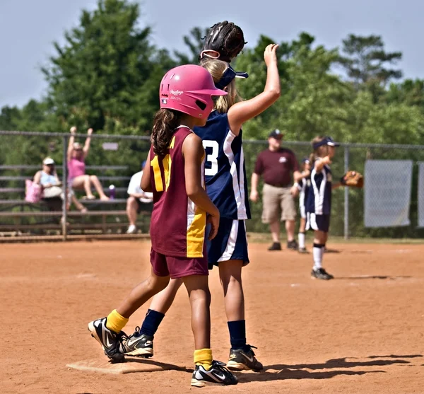
<instances>
[{"instance_id":1,"label":"woman in pink top sitting on bleachers with both arms raised","mask_svg":"<svg viewBox=\"0 0 424 394\"><path fill-rule=\"evenodd\" d=\"M68 185L72 189L86 190L87 199L95 199L91 192L91 185L94 185L98 191L99 197L102 200L109 199L103 192L100 180L96 175L86 175L86 157L90 150L90 136L93 134L93 129L88 129L87 139L84 147L78 142L75 142L76 127L71 127L71 138L68 145Z\"/></svg>"}]
</instances>

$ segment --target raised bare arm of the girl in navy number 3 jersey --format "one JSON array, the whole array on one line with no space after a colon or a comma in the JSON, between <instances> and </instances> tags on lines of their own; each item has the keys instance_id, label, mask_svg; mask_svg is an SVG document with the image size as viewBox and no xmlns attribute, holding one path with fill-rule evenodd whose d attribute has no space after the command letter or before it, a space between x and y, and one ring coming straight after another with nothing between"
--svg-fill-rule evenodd
<instances>
[{"instance_id":1,"label":"raised bare arm of the girl in navy number 3 jersey","mask_svg":"<svg viewBox=\"0 0 424 394\"><path fill-rule=\"evenodd\" d=\"M264 60L267 66L266 83L262 93L250 100L232 105L228 110L228 123L233 134L238 135L242 124L264 112L278 100L281 94L280 76L278 74L276 50L278 45L266 47Z\"/></svg>"}]
</instances>

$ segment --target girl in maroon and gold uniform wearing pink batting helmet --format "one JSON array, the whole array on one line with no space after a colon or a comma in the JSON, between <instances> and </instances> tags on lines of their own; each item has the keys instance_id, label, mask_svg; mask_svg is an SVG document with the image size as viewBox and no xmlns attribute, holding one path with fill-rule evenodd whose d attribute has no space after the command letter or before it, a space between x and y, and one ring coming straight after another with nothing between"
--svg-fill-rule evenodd
<instances>
[{"instance_id":1,"label":"girl in maroon and gold uniform wearing pink batting helmet","mask_svg":"<svg viewBox=\"0 0 424 394\"><path fill-rule=\"evenodd\" d=\"M194 364L192 386L236 384L237 378L211 351L208 262L204 252L206 221L216 236L219 211L204 190L205 152L195 126L204 126L212 97L225 95L201 66L179 66L160 83L160 110L155 115L152 146L141 188L153 192L151 274L106 318L88 324L91 335L112 360L127 352L122 328L143 303L165 289L170 278L182 278L192 306ZM208 215L208 216L206 216Z\"/></svg>"}]
</instances>

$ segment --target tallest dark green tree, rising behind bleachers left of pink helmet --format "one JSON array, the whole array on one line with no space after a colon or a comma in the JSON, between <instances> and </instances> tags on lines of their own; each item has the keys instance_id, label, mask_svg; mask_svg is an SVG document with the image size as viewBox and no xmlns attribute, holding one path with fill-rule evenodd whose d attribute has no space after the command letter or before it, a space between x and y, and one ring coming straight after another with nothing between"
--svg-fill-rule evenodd
<instances>
[{"instance_id":1,"label":"tallest dark green tree, rising behind bleachers left of pink helmet","mask_svg":"<svg viewBox=\"0 0 424 394\"><path fill-rule=\"evenodd\" d=\"M49 98L69 124L110 133L139 133L158 109L158 86L174 62L149 43L151 29L138 28L139 5L99 0L83 11L78 27L57 42L43 68Z\"/></svg>"}]
</instances>

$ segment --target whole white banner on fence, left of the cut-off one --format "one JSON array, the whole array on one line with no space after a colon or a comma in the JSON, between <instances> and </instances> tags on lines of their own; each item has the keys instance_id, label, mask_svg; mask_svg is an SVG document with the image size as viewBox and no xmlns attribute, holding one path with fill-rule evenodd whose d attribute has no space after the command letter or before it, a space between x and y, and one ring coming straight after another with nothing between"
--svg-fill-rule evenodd
<instances>
[{"instance_id":1,"label":"whole white banner on fence, left of the cut-off one","mask_svg":"<svg viewBox=\"0 0 424 394\"><path fill-rule=\"evenodd\" d=\"M408 226L411 160L365 162L365 227Z\"/></svg>"}]
</instances>

